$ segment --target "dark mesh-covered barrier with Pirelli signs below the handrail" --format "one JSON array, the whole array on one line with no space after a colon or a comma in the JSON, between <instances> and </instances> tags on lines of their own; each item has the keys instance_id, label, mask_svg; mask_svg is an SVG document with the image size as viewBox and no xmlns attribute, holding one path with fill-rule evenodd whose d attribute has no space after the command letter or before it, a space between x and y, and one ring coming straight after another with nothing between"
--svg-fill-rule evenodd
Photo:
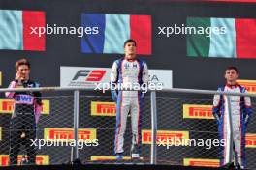
<instances>
[{"instance_id":1,"label":"dark mesh-covered barrier with Pirelli signs below the handrail","mask_svg":"<svg viewBox=\"0 0 256 170\"><path fill-rule=\"evenodd\" d=\"M28 89L35 90L35 89ZM115 163L113 154L115 132L115 103L110 96L88 96L82 90L69 88L40 88L43 93L42 115L36 128L33 146L38 165L57 165L80 158L82 163ZM50 91L48 91L50 90ZM63 95L64 91L65 93ZM0 89L1 92L7 89ZM24 91L24 90L23 90ZM150 93L144 99L142 117L141 163L152 162L152 125ZM156 163L181 166L219 166L217 124L213 119L212 98L215 91L202 92L170 89L170 97L156 92L157 133ZM172 98L176 93L201 93L201 98ZM205 94L205 95L204 95ZM249 168L256 163L255 98L253 116L246 133L246 157ZM77 99L76 99L77 98ZM10 119L14 110L12 99L0 99L0 165L9 165ZM77 114L77 116L76 116ZM76 122L77 120L77 122ZM77 127L77 128L76 128ZM78 129L78 130L77 130ZM130 162L131 120L128 116L124 140L124 160ZM172 139L172 140L170 140ZM78 141L79 142L78 142ZM171 143L172 142L172 143ZM22 144L22 143L21 143ZM20 145L18 163L26 149Z\"/></svg>"}]
</instances>

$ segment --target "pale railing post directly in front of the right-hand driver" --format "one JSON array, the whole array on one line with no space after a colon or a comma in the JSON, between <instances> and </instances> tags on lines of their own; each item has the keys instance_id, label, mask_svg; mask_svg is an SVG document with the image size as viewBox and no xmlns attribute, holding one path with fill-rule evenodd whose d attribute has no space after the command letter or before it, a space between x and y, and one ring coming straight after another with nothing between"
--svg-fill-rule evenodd
<instances>
[{"instance_id":1,"label":"pale railing post directly in front of the right-hand driver","mask_svg":"<svg viewBox=\"0 0 256 170\"><path fill-rule=\"evenodd\" d=\"M226 148L227 152L225 152L225 157L227 157L225 163L230 163L232 161L232 156L233 156L233 124L232 124L232 113L231 113L231 100L230 100L230 95L226 95L227 97L227 141L226 141ZM225 126L225 125L224 125Z\"/></svg>"}]
</instances>

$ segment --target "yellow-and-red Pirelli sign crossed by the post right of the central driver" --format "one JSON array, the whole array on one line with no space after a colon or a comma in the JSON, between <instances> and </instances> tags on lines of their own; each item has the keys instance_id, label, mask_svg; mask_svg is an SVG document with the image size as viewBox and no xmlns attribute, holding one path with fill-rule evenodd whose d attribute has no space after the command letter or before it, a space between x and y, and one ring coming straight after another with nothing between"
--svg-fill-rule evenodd
<instances>
[{"instance_id":1,"label":"yellow-and-red Pirelli sign crossed by the post right of the central driver","mask_svg":"<svg viewBox=\"0 0 256 170\"><path fill-rule=\"evenodd\" d=\"M163 144L167 144L170 140L185 140L189 139L188 131L167 131L167 130L157 130L156 143L159 144L160 141ZM142 130L142 143L151 144L151 130ZM180 143L181 145L181 143ZM176 144L178 146L178 144Z\"/></svg>"}]
</instances>

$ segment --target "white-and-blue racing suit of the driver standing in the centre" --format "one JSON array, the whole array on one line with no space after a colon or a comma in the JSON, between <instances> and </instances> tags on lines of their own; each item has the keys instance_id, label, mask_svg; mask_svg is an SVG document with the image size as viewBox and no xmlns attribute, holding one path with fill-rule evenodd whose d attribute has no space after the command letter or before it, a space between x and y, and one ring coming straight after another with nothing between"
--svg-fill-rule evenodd
<instances>
[{"instance_id":1,"label":"white-and-blue racing suit of the driver standing in the centre","mask_svg":"<svg viewBox=\"0 0 256 170\"><path fill-rule=\"evenodd\" d=\"M144 61L135 59L128 61L119 59L113 62L111 72L111 84L126 86L128 84L147 85L148 70ZM123 153L124 133L128 113L131 115L132 124L132 149L141 152L141 127L142 127L142 104L144 93L141 91L112 90L112 98L116 101L116 127L114 140L114 153ZM132 151L131 151L132 152Z\"/></svg>"}]
</instances>

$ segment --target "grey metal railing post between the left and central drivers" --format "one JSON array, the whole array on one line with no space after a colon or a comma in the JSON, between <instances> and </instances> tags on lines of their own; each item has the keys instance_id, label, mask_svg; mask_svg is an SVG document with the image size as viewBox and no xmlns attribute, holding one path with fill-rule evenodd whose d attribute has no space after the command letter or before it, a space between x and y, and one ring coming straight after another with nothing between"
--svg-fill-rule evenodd
<instances>
[{"instance_id":1,"label":"grey metal railing post between the left and central drivers","mask_svg":"<svg viewBox=\"0 0 256 170\"><path fill-rule=\"evenodd\" d=\"M76 145L74 147L73 152L73 160L79 158L79 150L78 150L78 138L79 138L79 113L80 113L80 91L74 91L74 140Z\"/></svg>"}]
</instances>

